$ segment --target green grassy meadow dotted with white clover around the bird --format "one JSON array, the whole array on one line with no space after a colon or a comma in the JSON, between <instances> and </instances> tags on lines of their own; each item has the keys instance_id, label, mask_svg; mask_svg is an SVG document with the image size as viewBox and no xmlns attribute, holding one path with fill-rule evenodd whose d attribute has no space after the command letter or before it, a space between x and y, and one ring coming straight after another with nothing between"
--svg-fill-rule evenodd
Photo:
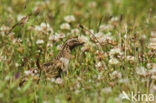
<instances>
[{"instance_id":1,"label":"green grassy meadow dotted with white clover around the bird","mask_svg":"<svg viewBox=\"0 0 156 103\"><path fill-rule=\"evenodd\" d=\"M155 4L155 0L0 0L0 103L131 103L122 100L122 91L155 95L155 74L150 71L156 68L151 66L156 65L156 55L149 47L155 42L150 39L156 31ZM28 18L18 20L20 15ZM69 23L70 30L60 29L68 15L76 20ZM35 29L43 22L53 31ZM92 34L79 24L94 34L101 31L100 38L110 34L111 39L97 36L102 42L99 49ZM72 33L74 28L80 32ZM57 33L65 37L49 40ZM43 75L39 84L30 76L24 86L18 86L24 71L36 66L37 55L40 64L51 60L58 45L73 35L88 39L85 46L72 51L61 83L46 81ZM111 57L114 48L121 51L115 50ZM147 102L151 101L139 103Z\"/></svg>"}]
</instances>

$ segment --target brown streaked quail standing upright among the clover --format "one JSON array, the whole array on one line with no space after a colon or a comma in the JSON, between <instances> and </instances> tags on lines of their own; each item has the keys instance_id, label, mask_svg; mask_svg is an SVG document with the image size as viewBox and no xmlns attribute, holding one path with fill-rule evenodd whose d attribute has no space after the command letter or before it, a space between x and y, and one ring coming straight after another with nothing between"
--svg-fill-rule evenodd
<instances>
[{"instance_id":1,"label":"brown streaked quail standing upright among the clover","mask_svg":"<svg viewBox=\"0 0 156 103\"><path fill-rule=\"evenodd\" d=\"M61 50L59 51L58 55L47 63L43 63L40 66L40 69L45 74L46 78L58 78L61 77L61 74L66 74L68 71L68 65L70 62L71 51L80 45L83 45L84 42L79 40L79 38L71 38L68 39L63 45ZM36 75L37 79L39 80L39 68L34 68L30 71L31 75ZM29 75L30 75L29 74ZM28 77L28 76L25 76ZM25 81L25 78L20 82L22 85Z\"/></svg>"}]
</instances>

